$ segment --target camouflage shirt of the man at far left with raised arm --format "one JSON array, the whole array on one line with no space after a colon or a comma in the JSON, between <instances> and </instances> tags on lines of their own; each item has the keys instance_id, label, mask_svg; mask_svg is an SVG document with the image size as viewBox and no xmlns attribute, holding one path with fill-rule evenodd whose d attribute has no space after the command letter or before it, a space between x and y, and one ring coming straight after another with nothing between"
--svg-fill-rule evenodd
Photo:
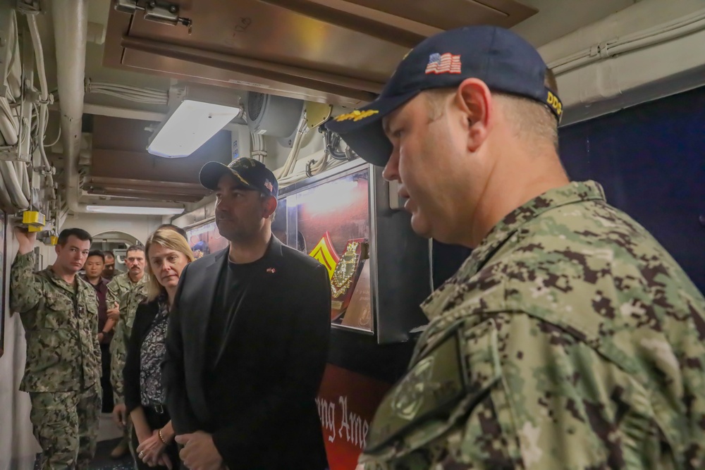
<instances>
[{"instance_id":1,"label":"camouflage shirt of the man at far left with raised arm","mask_svg":"<svg viewBox=\"0 0 705 470\"><path fill-rule=\"evenodd\" d=\"M99 383L98 299L76 276L75 286L50 268L33 273L33 253L18 254L10 272L10 309L27 338L20 390L71 392Z\"/></svg>"}]
</instances>

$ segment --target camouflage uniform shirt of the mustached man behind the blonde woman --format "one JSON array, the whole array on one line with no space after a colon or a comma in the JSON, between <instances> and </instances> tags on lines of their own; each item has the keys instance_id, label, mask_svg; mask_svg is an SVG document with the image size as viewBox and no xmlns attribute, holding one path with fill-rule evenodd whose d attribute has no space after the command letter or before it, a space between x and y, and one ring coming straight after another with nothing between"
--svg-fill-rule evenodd
<instances>
[{"instance_id":1,"label":"camouflage uniform shirt of the mustached man behind the blonde woman","mask_svg":"<svg viewBox=\"0 0 705 470\"><path fill-rule=\"evenodd\" d=\"M116 403L124 402L123 367L127 356L127 345L137 313L137 306L147 300L147 273L133 283L129 273L115 276L108 283L106 305L112 309L114 302L120 306L120 320L115 325L113 340L110 342L111 381Z\"/></svg>"}]
</instances>

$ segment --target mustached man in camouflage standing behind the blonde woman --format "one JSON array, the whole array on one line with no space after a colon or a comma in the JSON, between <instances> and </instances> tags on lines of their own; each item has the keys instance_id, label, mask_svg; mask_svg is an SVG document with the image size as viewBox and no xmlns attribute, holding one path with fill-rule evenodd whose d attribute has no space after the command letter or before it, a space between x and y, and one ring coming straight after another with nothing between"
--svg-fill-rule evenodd
<instances>
[{"instance_id":1,"label":"mustached man in camouflage standing behind the blonde woman","mask_svg":"<svg viewBox=\"0 0 705 470\"><path fill-rule=\"evenodd\" d=\"M145 276L145 249L132 245L128 247L125 256L128 272L115 276L108 283L106 304L108 315L117 321L113 340L110 343L111 366L110 381L113 385L115 407L113 416L118 426L123 428L123 440L111 452L118 458L128 451L130 429L128 414L125 410L125 387L123 385L123 369L127 357L127 345L132 333L133 321L137 306L147 300L147 276ZM114 308L115 306L117 308Z\"/></svg>"}]
</instances>

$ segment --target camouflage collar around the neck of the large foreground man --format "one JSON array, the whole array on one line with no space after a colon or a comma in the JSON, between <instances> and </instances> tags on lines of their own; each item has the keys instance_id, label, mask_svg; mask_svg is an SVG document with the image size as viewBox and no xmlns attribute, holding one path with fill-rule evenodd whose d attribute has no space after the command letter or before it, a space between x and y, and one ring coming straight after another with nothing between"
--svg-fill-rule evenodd
<instances>
[{"instance_id":1,"label":"camouflage collar around the neck of the large foreground man","mask_svg":"<svg viewBox=\"0 0 705 470\"><path fill-rule=\"evenodd\" d=\"M511 211L510 214L505 216L502 221L490 230L477 248L472 250L472 254L460 266L458 272L424 301L421 308L426 316L429 319L438 316L443 310L450 292L454 291L454 289L448 287L450 285L461 285L463 282L460 282L460 280L467 280L475 276L522 225L544 214L546 211L556 209L556 207L591 200L605 200L602 186L595 181L574 182L548 190Z\"/></svg>"}]
</instances>

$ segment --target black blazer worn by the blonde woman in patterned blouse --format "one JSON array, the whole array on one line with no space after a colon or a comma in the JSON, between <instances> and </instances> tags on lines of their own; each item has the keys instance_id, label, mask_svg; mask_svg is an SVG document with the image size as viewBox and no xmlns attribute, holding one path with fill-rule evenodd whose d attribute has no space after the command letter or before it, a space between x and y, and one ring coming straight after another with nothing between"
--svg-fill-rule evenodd
<instances>
[{"instance_id":1,"label":"black blazer worn by the blonde woman in patterned blouse","mask_svg":"<svg viewBox=\"0 0 705 470\"><path fill-rule=\"evenodd\" d=\"M159 302L145 302L137 306L133 330L127 347L123 381L125 386L125 407L128 413L142 405L140 400L140 350L145 336L149 333L154 317L159 313ZM164 382L164 380L162 380Z\"/></svg>"}]
</instances>

